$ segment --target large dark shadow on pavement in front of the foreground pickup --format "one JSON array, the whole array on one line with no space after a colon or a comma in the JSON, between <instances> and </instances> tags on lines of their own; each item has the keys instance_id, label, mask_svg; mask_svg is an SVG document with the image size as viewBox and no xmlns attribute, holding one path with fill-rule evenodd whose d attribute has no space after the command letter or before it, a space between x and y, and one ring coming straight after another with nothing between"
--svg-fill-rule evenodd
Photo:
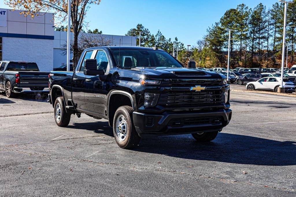
<instances>
[{"instance_id":1,"label":"large dark shadow on pavement in front of the foreground pickup","mask_svg":"<svg viewBox=\"0 0 296 197\"><path fill-rule=\"evenodd\" d=\"M234 164L296 165L296 142L276 141L252 136L218 133L215 140L198 143L191 135L143 139L134 149L183 159Z\"/></svg>"}]
</instances>

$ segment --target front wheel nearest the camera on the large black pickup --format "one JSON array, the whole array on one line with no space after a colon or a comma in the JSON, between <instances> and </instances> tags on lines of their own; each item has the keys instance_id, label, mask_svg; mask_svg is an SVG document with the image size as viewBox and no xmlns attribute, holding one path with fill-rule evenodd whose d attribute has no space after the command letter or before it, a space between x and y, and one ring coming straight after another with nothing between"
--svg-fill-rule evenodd
<instances>
[{"instance_id":1,"label":"front wheel nearest the camera on the large black pickup","mask_svg":"<svg viewBox=\"0 0 296 197\"><path fill-rule=\"evenodd\" d=\"M131 149L139 144L141 138L133 125L133 108L121 106L116 110L113 119L113 133L120 148Z\"/></svg>"}]
</instances>

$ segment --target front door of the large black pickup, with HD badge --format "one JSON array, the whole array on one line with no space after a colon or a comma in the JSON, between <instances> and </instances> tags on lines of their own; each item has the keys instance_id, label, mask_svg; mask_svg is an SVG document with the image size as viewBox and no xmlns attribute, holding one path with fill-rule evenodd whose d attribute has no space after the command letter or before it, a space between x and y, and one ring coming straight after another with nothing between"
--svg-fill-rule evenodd
<instances>
[{"instance_id":1,"label":"front door of the large black pickup, with HD badge","mask_svg":"<svg viewBox=\"0 0 296 197\"><path fill-rule=\"evenodd\" d=\"M97 62L97 69L104 70L105 75L107 75L110 64L105 51L95 51L95 59ZM86 75L85 104L87 110L105 115L107 84L108 82L102 82L99 79L99 76Z\"/></svg>"}]
</instances>

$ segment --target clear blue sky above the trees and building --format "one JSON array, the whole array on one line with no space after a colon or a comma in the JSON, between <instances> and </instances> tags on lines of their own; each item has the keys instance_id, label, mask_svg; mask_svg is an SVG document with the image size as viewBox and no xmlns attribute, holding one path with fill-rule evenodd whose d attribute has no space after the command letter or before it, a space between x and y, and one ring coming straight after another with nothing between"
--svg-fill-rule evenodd
<instances>
[{"instance_id":1,"label":"clear blue sky above the trees and building","mask_svg":"<svg viewBox=\"0 0 296 197\"><path fill-rule=\"evenodd\" d=\"M141 23L152 34L160 30L166 38L194 45L226 10L242 3L254 8L260 2L271 8L277 0L102 0L89 9L86 21L89 29L113 35L125 35ZM0 8L7 8L3 1Z\"/></svg>"}]
</instances>

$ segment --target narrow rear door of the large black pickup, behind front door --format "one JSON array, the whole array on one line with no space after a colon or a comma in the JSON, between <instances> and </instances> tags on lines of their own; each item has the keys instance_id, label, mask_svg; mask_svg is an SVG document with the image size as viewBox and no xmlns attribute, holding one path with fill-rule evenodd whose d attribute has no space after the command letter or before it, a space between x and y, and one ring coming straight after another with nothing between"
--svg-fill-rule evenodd
<instances>
[{"instance_id":1,"label":"narrow rear door of the large black pickup, behind front door","mask_svg":"<svg viewBox=\"0 0 296 197\"><path fill-rule=\"evenodd\" d=\"M72 80L72 99L75 104L77 104L77 108L87 110L84 100L84 92L85 92L85 75L84 71L84 60L91 59L92 53L94 51L86 51L83 55L83 59L77 65L77 69L73 73Z\"/></svg>"}]
</instances>

